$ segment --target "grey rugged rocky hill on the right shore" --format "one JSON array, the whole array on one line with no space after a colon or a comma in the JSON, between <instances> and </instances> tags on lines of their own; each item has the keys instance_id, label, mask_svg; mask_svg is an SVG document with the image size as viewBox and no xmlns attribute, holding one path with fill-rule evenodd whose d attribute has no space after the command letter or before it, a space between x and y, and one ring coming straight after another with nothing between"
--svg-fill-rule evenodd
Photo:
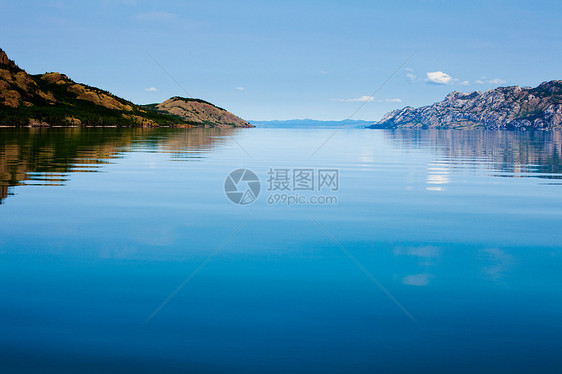
<instances>
[{"instance_id":1,"label":"grey rugged rocky hill on the right shore","mask_svg":"<svg viewBox=\"0 0 562 374\"><path fill-rule=\"evenodd\" d=\"M536 88L455 91L433 105L394 110L369 128L560 129L562 81L544 82Z\"/></svg>"}]
</instances>

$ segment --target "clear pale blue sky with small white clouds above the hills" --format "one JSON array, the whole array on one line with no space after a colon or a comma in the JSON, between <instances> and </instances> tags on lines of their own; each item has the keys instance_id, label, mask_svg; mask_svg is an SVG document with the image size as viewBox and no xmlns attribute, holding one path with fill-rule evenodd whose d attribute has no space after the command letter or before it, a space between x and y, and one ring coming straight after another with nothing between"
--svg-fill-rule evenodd
<instances>
[{"instance_id":1,"label":"clear pale blue sky with small white clouds above the hills","mask_svg":"<svg viewBox=\"0 0 562 374\"><path fill-rule=\"evenodd\" d=\"M562 79L559 1L0 0L0 48L137 104L378 120L451 91Z\"/></svg>"}]
</instances>

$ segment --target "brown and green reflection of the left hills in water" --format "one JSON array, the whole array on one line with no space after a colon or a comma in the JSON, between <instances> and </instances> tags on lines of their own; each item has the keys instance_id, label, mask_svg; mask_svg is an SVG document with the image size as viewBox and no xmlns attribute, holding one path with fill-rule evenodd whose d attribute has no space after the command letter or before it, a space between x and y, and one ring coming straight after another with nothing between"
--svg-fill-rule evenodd
<instances>
[{"instance_id":1,"label":"brown and green reflection of the left hills in water","mask_svg":"<svg viewBox=\"0 0 562 374\"><path fill-rule=\"evenodd\" d=\"M76 172L96 172L133 148L194 160L237 129L2 128L0 204L17 185L62 186Z\"/></svg>"}]
</instances>

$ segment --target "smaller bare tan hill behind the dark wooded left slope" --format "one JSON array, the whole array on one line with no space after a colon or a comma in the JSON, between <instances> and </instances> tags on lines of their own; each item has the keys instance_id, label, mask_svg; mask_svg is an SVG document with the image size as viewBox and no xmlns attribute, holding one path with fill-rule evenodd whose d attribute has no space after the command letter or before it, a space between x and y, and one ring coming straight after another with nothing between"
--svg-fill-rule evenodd
<instances>
[{"instance_id":1,"label":"smaller bare tan hill behind the dark wooded left slope","mask_svg":"<svg viewBox=\"0 0 562 374\"><path fill-rule=\"evenodd\" d=\"M180 117L184 121L207 127L254 127L242 118L199 99L174 96L160 104L157 110Z\"/></svg>"}]
</instances>

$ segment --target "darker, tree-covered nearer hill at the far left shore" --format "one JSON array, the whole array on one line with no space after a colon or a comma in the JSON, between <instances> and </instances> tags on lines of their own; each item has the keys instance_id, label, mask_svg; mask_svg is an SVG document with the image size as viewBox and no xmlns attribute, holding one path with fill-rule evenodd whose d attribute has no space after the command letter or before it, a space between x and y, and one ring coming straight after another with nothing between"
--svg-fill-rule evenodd
<instances>
[{"instance_id":1,"label":"darker, tree-covered nearer hill at the far left shore","mask_svg":"<svg viewBox=\"0 0 562 374\"><path fill-rule=\"evenodd\" d=\"M0 49L0 125L155 127L194 125L65 75L29 75ZM200 124L198 124L200 125Z\"/></svg>"}]
</instances>

